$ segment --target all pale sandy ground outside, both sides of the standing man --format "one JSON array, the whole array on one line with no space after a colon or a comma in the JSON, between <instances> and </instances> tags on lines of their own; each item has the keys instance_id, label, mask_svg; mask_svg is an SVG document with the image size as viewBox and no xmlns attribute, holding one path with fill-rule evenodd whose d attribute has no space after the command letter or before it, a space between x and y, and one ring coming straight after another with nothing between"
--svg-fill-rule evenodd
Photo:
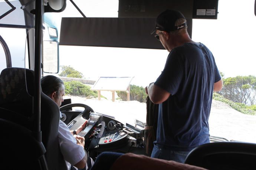
<instances>
[{"instance_id":1,"label":"all pale sandy ground outside, both sides of the standing man","mask_svg":"<svg viewBox=\"0 0 256 170\"><path fill-rule=\"evenodd\" d=\"M116 120L124 124L133 124L135 119L146 122L146 103L118 100L112 102L107 99L98 101L98 99L78 96L65 96L65 98L71 98L72 103L84 103L95 112L115 116ZM240 113L226 103L213 100L209 126L211 136L256 143L256 116Z\"/></svg>"}]
</instances>

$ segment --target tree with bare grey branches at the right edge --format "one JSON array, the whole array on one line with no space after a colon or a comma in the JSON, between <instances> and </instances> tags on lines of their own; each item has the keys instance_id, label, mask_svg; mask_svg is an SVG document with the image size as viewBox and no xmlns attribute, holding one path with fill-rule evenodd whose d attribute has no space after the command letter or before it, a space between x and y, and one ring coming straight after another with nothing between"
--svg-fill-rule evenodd
<instances>
[{"instance_id":1,"label":"tree with bare grey branches at the right edge","mask_svg":"<svg viewBox=\"0 0 256 170\"><path fill-rule=\"evenodd\" d=\"M256 76L236 76L223 79L223 89L218 92L233 102L256 103Z\"/></svg>"}]
</instances>

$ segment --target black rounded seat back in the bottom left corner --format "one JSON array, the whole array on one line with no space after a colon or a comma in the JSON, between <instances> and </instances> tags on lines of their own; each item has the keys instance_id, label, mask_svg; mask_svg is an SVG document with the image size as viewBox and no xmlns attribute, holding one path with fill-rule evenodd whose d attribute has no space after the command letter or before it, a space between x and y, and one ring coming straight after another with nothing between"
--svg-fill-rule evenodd
<instances>
[{"instance_id":1,"label":"black rounded seat back in the bottom left corner","mask_svg":"<svg viewBox=\"0 0 256 170\"><path fill-rule=\"evenodd\" d=\"M45 147L35 139L31 130L0 119L0 134L1 169L45 169L40 164L46 152Z\"/></svg>"}]
</instances>

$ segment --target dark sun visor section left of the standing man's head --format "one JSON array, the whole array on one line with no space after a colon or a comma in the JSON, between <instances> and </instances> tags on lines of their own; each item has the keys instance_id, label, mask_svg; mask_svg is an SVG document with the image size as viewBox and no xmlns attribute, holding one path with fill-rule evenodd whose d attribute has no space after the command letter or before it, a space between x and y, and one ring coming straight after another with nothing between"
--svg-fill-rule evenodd
<instances>
[{"instance_id":1,"label":"dark sun visor section left of the standing man's head","mask_svg":"<svg viewBox=\"0 0 256 170\"><path fill-rule=\"evenodd\" d=\"M60 45L164 49L155 18L62 18Z\"/></svg>"}]
</instances>

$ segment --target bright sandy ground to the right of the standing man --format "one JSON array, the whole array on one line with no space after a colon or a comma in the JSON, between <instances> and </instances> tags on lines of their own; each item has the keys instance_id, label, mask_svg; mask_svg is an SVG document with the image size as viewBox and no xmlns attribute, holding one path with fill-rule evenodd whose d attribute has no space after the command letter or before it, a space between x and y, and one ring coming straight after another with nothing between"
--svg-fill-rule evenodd
<instances>
[{"instance_id":1,"label":"bright sandy ground to the right of the standing man","mask_svg":"<svg viewBox=\"0 0 256 170\"><path fill-rule=\"evenodd\" d=\"M212 136L256 143L256 116L238 112L226 103L213 101L209 126Z\"/></svg>"}]
</instances>

